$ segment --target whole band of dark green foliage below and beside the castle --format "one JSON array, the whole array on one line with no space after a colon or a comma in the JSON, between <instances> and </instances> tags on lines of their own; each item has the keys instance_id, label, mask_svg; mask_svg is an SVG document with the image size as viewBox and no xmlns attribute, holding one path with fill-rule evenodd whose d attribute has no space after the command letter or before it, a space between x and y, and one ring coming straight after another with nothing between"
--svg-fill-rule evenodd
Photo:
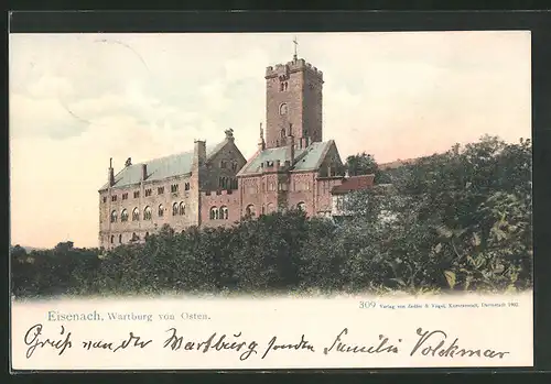
<instances>
[{"instance_id":1,"label":"whole band of dark green foliage below and beside the castle","mask_svg":"<svg viewBox=\"0 0 551 384\"><path fill-rule=\"evenodd\" d=\"M350 195L355 215L336 221L290 211L229 229L164 227L108 253L15 246L13 294L531 287L530 141L486 136L385 177L391 186Z\"/></svg>"}]
</instances>

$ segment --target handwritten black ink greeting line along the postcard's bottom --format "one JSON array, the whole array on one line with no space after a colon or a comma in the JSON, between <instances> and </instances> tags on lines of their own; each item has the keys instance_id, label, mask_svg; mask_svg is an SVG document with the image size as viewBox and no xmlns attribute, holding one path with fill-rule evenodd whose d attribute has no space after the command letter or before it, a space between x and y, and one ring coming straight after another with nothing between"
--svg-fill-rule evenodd
<instances>
[{"instance_id":1,"label":"handwritten black ink greeting line along the postcard's bottom","mask_svg":"<svg viewBox=\"0 0 551 384\"><path fill-rule=\"evenodd\" d=\"M412 334L403 338L391 339L378 334L370 341L358 340L350 336L348 328L344 328L335 336L327 337L324 344L317 348L306 337L301 334L294 338L272 336L266 340L247 339L239 332L213 332L204 338L184 334L176 328L170 328L160 338L147 338L129 331L119 339L89 338L83 334L77 339L64 326L48 330L45 336L44 326L34 325L24 334L26 359L35 356L37 350L51 350L57 355L71 353L72 350L101 351L123 353L130 350L161 349L170 352L188 352L216 354L220 351L235 352L240 361L252 358L267 359L278 353L323 353L329 354L401 354L410 356L422 355L426 358L467 356L480 359L504 359L510 352L495 351L489 348L463 345L458 338L454 338L443 330L424 330L418 328ZM37 358L40 359L40 358Z\"/></svg>"}]
</instances>

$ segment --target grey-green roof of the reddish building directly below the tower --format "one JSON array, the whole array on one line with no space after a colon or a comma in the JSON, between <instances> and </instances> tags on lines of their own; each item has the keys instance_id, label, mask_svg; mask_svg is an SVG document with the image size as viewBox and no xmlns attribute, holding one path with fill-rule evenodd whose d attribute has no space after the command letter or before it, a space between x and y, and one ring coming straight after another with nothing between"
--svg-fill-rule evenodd
<instances>
[{"instance_id":1,"label":"grey-green roof of the reddish building directly below the tower","mask_svg":"<svg viewBox=\"0 0 551 384\"><path fill-rule=\"evenodd\" d=\"M303 171L317 171L323 157L327 153L329 146L334 143L333 140L326 142L315 142L311 143L305 149L294 150L294 164L291 171L303 172ZM258 152L247 164L239 171L237 176L253 175L262 173L262 163L280 161L281 166L284 165L285 161L290 161L289 151L287 146L279 146L273 149L268 149L262 152Z\"/></svg>"}]
</instances>

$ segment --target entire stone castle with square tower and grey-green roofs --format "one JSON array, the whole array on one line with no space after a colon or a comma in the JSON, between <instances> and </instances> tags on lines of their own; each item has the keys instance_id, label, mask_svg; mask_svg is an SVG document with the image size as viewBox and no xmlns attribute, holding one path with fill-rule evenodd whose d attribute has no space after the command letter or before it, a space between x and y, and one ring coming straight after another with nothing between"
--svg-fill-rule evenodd
<instances>
[{"instance_id":1,"label":"entire stone castle with square tower and grey-green roofs","mask_svg":"<svg viewBox=\"0 0 551 384\"><path fill-rule=\"evenodd\" d=\"M347 178L335 142L323 141L323 73L295 54L268 67L264 78L266 138L260 124L249 161L227 130L214 147L195 141L193 152L142 164L129 158L116 175L110 164L99 189L100 246L142 241L163 224L231 226L287 209L332 216L332 190L342 194L335 187Z\"/></svg>"}]
</instances>

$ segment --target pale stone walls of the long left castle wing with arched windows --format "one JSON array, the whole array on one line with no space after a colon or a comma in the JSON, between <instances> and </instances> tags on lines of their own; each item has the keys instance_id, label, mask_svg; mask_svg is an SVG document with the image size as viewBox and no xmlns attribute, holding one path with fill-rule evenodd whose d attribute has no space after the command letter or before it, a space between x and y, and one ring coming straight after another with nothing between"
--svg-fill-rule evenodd
<instances>
[{"instance_id":1,"label":"pale stone walls of the long left castle wing with arched windows","mask_svg":"<svg viewBox=\"0 0 551 384\"><path fill-rule=\"evenodd\" d=\"M185 174L151 179L144 163L140 164L144 172L138 183L118 187L114 182L120 176L114 175L112 166L109 168L108 184L99 190L100 246L110 249L143 241L163 224L175 231L201 227L208 215L203 206L210 200L205 196L206 190L214 190L215 196L223 189L224 196L233 191L237 195L236 175L246 160L235 145L233 134L227 132L226 140L209 156L204 141L194 144L191 169ZM114 185L109 187L110 183ZM238 210L234 209L233 216L237 215Z\"/></svg>"}]
</instances>

